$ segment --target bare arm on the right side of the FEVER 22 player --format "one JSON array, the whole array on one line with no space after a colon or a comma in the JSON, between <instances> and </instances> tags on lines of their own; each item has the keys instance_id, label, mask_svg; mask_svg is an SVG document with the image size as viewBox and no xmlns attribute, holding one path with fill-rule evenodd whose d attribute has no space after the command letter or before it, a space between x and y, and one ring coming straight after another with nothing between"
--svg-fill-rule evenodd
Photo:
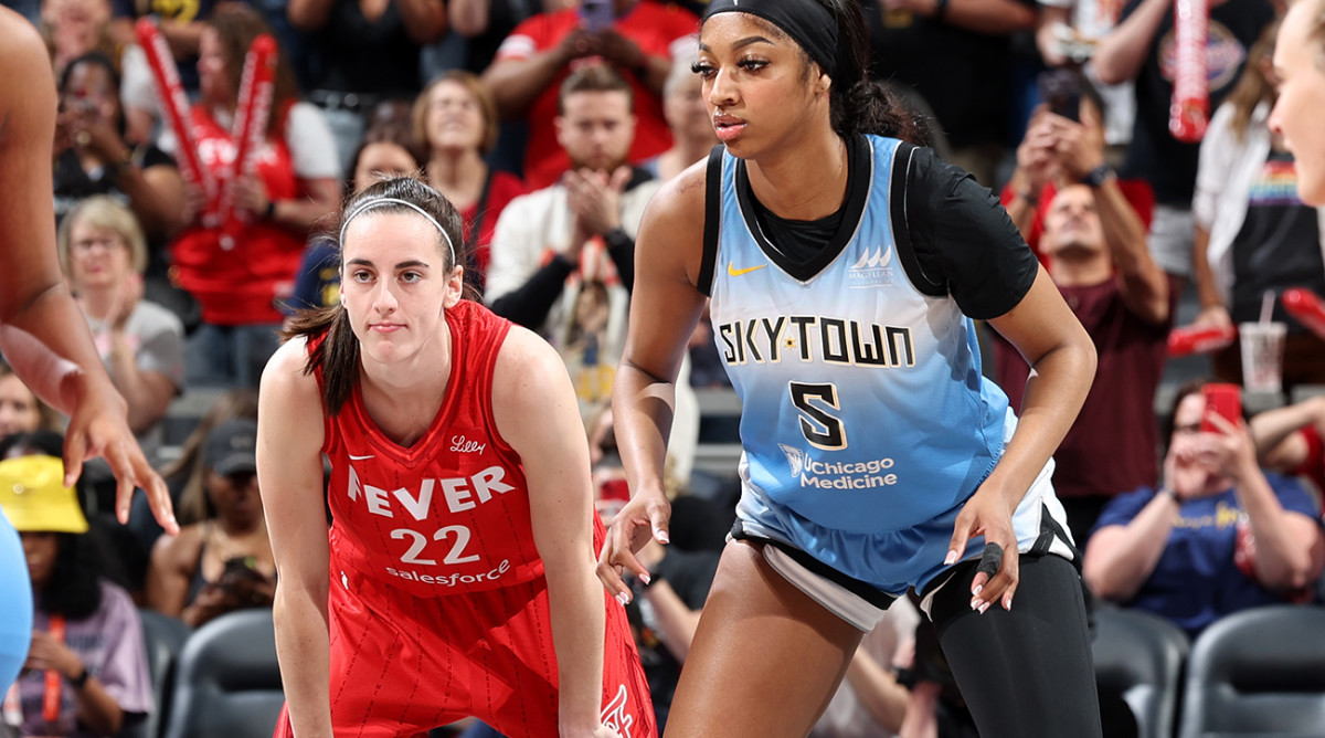
<instances>
[{"instance_id":1,"label":"bare arm on the right side of the FEVER 22 player","mask_svg":"<svg viewBox=\"0 0 1325 738\"><path fill-rule=\"evenodd\" d=\"M602 725L607 600L594 578L594 489L575 390L553 347L521 327L502 344L493 384L493 417L525 468L547 576L560 734L611 735Z\"/></svg>"}]
</instances>

